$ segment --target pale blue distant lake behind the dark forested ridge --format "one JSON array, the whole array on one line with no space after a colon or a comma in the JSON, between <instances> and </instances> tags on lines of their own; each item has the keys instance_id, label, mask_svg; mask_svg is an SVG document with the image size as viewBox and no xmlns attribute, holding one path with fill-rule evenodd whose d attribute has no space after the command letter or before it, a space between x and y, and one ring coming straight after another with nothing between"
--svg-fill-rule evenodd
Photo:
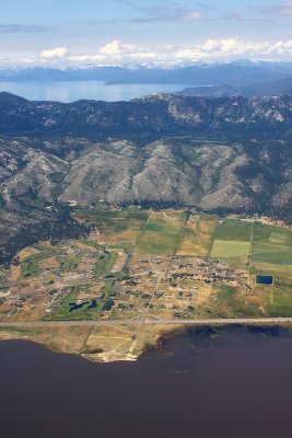
<instances>
[{"instance_id":1,"label":"pale blue distant lake behind the dark forested ridge","mask_svg":"<svg viewBox=\"0 0 292 438\"><path fill-rule=\"evenodd\" d=\"M0 82L0 91L8 91L31 101L58 102L75 102L81 99L107 102L130 101L151 93L177 92L187 87L187 84L155 83L106 85L100 81Z\"/></svg>"}]
</instances>

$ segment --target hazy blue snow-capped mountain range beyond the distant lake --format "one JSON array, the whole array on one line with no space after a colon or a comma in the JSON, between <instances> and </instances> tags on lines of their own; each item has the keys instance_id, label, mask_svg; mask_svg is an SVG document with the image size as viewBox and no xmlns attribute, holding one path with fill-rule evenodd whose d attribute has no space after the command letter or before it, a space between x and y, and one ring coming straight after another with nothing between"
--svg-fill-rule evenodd
<instances>
[{"instance_id":1,"label":"hazy blue snow-capped mountain range beyond the distant lake","mask_svg":"<svg viewBox=\"0 0 292 438\"><path fill-rule=\"evenodd\" d=\"M161 83L248 87L292 78L292 62L202 64L174 69L97 67L58 70L26 68L0 70L0 81L104 81L107 84Z\"/></svg>"}]
</instances>

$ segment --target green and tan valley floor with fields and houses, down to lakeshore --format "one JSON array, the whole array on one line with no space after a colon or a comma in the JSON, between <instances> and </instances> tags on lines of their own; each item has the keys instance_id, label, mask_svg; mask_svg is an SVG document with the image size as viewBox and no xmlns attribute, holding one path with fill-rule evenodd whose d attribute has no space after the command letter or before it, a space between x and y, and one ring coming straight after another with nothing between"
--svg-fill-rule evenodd
<instances>
[{"instance_id":1,"label":"green and tan valley floor with fields and houses, down to lakeshore","mask_svg":"<svg viewBox=\"0 0 292 438\"><path fill-rule=\"evenodd\" d=\"M292 319L288 227L172 209L74 217L86 239L38 242L0 272L0 338L133 360L180 325Z\"/></svg>"}]
</instances>

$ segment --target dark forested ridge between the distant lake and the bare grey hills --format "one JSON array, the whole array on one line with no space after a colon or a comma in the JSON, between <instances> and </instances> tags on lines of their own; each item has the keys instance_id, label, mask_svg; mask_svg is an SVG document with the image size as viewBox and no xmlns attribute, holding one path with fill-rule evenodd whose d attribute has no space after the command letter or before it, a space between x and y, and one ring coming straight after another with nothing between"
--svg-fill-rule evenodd
<instances>
[{"instance_id":1,"label":"dark forested ridge between the distant lake and the bare grey hills","mask_svg":"<svg viewBox=\"0 0 292 438\"><path fill-rule=\"evenodd\" d=\"M164 136L243 136L275 139L289 135L291 96L184 97L154 94L130 102L30 102L0 93L0 135L60 140L108 137L161 139Z\"/></svg>"}]
</instances>

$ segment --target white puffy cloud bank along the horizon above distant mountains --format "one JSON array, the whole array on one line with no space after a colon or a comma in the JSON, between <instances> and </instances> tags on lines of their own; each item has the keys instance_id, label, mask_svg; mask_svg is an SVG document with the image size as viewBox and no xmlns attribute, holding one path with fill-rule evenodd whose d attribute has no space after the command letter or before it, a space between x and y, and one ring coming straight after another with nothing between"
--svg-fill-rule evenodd
<instances>
[{"instance_id":1,"label":"white puffy cloud bank along the horizon above distant mountains","mask_svg":"<svg viewBox=\"0 0 292 438\"><path fill-rule=\"evenodd\" d=\"M0 65L16 66L117 66L117 65L156 65L175 66L197 61L227 61L238 58L289 60L292 56L292 39L276 42L248 42L238 37L209 38L201 43L175 46L141 46L113 39L93 54L73 54L67 47L45 49L38 55L25 59L0 58Z\"/></svg>"}]
</instances>

